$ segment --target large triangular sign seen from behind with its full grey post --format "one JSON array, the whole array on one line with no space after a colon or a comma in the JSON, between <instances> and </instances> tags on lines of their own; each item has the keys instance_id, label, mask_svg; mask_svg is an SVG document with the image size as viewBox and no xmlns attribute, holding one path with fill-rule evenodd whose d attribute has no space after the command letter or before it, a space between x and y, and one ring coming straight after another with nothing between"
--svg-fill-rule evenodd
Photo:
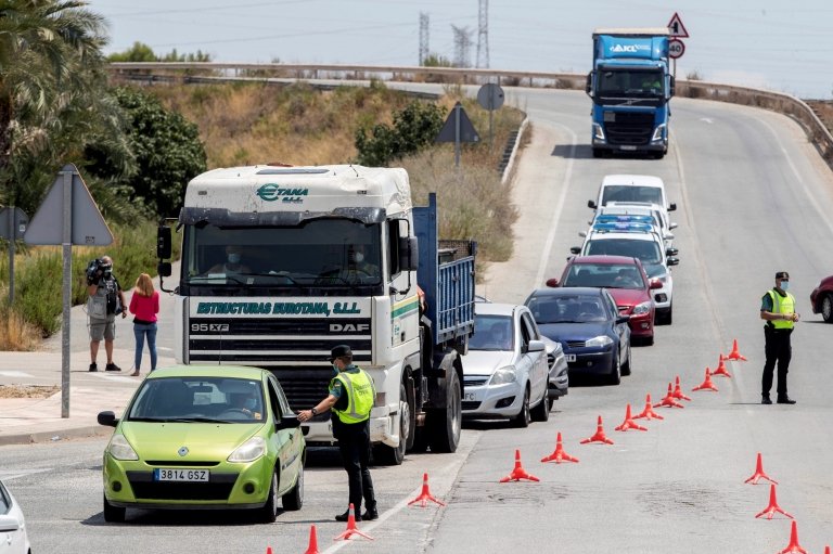
<instances>
[{"instance_id":1,"label":"large triangular sign seen from behind with its full grey post","mask_svg":"<svg viewBox=\"0 0 833 554\"><path fill-rule=\"evenodd\" d=\"M78 169L65 165L24 234L26 244L63 246L63 320L61 323L61 417L69 417L69 313L73 296L73 245L106 246L113 233Z\"/></svg>"}]
</instances>

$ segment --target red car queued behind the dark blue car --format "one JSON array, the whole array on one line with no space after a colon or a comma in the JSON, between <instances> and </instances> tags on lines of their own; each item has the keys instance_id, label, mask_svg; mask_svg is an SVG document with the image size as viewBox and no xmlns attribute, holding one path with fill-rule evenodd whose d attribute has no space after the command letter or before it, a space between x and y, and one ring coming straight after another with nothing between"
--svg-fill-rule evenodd
<instances>
[{"instance_id":1,"label":"red car queued behind the dark blue car","mask_svg":"<svg viewBox=\"0 0 833 554\"><path fill-rule=\"evenodd\" d=\"M663 284L649 279L638 258L626 256L575 256L567 261L561 280L550 279L547 286L595 286L610 291L619 313L630 317L633 342L654 344L654 301L651 289Z\"/></svg>"}]
</instances>

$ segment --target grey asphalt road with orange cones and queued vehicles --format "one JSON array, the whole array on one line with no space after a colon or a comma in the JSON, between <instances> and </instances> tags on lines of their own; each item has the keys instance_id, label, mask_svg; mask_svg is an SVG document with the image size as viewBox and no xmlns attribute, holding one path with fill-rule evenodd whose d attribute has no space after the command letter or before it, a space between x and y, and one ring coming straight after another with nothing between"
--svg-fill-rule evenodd
<instances>
[{"instance_id":1,"label":"grey asphalt road with orange cones and queued vehicles","mask_svg":"<svg viewBox=\"0 0 833 554\"><path fill-rule=\"evenodd\" d=\"M633 349L623 384L576 386L550 421L528 429L467 425L456 454L409 456L400 467L374 468L383 517L360 528L374 541L333 542L332 521L346 494L343 471L325 452L311 464L305 507L258 526L235 515L174 512L128 514L124 526L101 515L104 441L0 448L0 476L24 503L38 552L261 553L304 552L310 525L321 552L621 552L753 554L779 552L790 520L755 518L769 487L744 480L760 452L779 481L778 502L795 516L799 542L822 552L833 542L833 421L828 390L831 327L811 314L809 293L831 271L833 175L800 128L778 114L729 104L675 99L672 146L663 160L593 159L587 142L589 101L576 91L507 89L526 109L533 141L512 191L523 217L516 250L489 269L482 293L523 301L560 273L579 244L606 173L662 177L678 210L671 219L680 250L674 269L674 324L656 344ZM804 315L793 335L790 394L794 407L759 402L762 332L760 296L778 270L792 276ZM746 362L715 377L718 392L692 392L736 339ZM692 398L684 409L656 409L648 431L615 431L626 404L641 411L679 376ZM603 417L614 445L579 445ZM563 434L577 464L542 464ZM500 484L515 451L537 482ZM414 508L422 474L446 507ZM55 502L61 499L61 502Z\"/></svg>"}]
</instances>

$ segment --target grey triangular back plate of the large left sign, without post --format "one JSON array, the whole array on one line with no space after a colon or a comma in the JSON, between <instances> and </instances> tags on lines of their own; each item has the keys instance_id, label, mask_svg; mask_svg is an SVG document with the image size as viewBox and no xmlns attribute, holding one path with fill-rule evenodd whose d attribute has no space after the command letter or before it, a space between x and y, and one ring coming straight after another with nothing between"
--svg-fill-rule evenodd
<instances>
[{"instance_id":1,"label":"grey triangular back plate of the large left sign, without post","mask_svg":"<svg viewBox=\"0 0 833 554\"><path fill-rule=\"evenodd\" d=\"M66 179L71 182L67 184ZM64 188L71 186L71 206L64 206ZM66 208L66 210L65 210ZM29 221L23 240L26 244L63 244L64 214L69 214L72 244L106 246L113 233L92 199L87 184L73 164L65 165L47 193L47 197Z\"/></svg>"}]
</instances>

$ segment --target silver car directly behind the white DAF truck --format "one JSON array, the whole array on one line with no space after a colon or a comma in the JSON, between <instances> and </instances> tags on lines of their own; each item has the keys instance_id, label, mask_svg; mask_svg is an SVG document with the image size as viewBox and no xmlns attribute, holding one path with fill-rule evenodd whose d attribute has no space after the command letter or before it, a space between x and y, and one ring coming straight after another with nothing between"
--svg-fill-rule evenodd
<instances>
[{"instance_id":1,"label":"silver car directly behind the white DAF truck","mask_svg":"<svg viewBox=\"0 0 833 554\"><path fill-rule=\"evenodd\" d=\"M531 312L512 304L474 306L474 335L462 360L463 417L509 417L517 427L547 421L550 365Z\"/></svg>"}]
</instances>

